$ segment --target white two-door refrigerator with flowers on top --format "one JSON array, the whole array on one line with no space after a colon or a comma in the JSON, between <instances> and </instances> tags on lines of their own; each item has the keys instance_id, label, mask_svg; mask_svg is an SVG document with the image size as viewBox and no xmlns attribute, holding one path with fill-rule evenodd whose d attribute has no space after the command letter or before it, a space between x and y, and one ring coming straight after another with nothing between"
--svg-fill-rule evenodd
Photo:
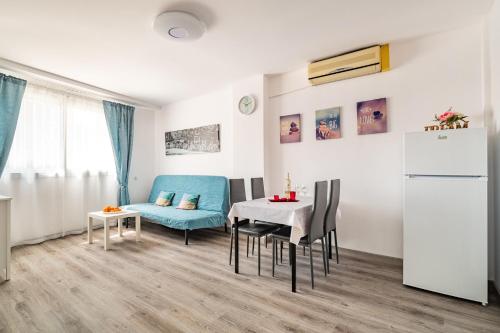
<instances>
[{"instance_id":1,"label":"white two-door refrigerator with flowers on top","mask_svg":"<svg viewBox=\"0 0 500 333\"><path fill-rule=\"evenodd\" d=\"M488 302L484 128L404 137L403 284Z\"/></svg>"}]
</instances>

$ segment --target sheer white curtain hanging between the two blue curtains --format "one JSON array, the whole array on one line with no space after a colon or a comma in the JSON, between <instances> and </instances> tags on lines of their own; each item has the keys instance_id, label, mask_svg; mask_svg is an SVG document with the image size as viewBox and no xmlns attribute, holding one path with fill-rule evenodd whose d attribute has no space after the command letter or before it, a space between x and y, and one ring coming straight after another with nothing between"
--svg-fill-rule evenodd
<instances>
[{"instance_id":1,"label":"sheer white curtain hanging between the two blue curtains","mask_svg":"<svg viewBox=\"0 0 500 333\"><path fill-rule=\"evenodd\" d=\"M12 242L85 230L86 214L116 203L102 102L28 85L0 193L14 198Z\"/></svg>"}]
</instances>

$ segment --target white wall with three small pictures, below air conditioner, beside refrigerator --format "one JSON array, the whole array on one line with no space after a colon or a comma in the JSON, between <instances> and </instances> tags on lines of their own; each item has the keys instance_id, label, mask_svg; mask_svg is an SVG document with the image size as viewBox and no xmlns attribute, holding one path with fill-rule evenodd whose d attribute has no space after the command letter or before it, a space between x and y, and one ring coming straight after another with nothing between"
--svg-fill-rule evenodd
<instances>
[{"instance_id":1,"label":"white wall with three small pictures, below air conditioner, beside refrigerator","mask_svg":"<svg viewBox=\"0 0 500 333\"><path fill-rule=\"evenodd\" d=\"M422 131L449 106L483 126L481 36L474 25L392 43L391 71L316 87L305 69L269 78L271 191L282 191L287 172L309 193L315 180L340 178L340 246L402 257L403 133ZM388 98L388 133L358 136L356 102L380 97ZM333 106L342 107L342 138L317 142L315 110ZM280 144L279 116L294 113L302 142Z\"/></svg>"}]
</instances>

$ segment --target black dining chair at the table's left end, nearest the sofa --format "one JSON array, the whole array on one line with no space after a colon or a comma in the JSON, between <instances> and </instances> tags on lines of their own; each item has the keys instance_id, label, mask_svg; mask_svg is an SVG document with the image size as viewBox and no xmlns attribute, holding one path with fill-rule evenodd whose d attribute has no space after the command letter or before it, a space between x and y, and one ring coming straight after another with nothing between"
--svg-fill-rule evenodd
<instances>
[{"instance_id":1,"label":"black dining chair at the table's left end, nearest the sofa","mask_svg":"<svg viewBox=\"0 0 500 333\"><path fill-rule=\"evenodd\" d=\"M237 202L246 201L246 192L245 192L245 180L240 179L230 179L229 180L229 200L231 202L231 206ZM249 242L250 237L253 240L257 238L257 273L260 275L260 238L265 236L277 229L276 225L270 225L267 223L260 223L254 221L250 222L248 219L244 219L238 221L238 231L241 234L247 235L247 257L249 250ZM229 248L229 265L231 265L232 257L233 257L233 238L234 238L234 224L231 225L231 244ZM252 252L253 253L253 252Z\"/></svg>"}]
</instances>

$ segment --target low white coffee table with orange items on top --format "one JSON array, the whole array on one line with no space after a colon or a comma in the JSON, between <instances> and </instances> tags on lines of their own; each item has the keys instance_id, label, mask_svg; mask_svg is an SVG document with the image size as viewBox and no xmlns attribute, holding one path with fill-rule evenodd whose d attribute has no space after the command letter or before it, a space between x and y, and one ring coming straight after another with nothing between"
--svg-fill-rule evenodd
<instances>
[{"instance_id":1,"label":"low white coffee table with orange items on top","mask_svg":"<svg viewBox=\"0 0 500 333\"><path fill-rule=\"evenodd\" d=\"M102 211L99 212L91 212L88 214L88 241L89 244L93 243L93 231L94 231L94 220L103 221L104 222L104 251L107 251L109 248L109 223L111 221L118 222L118 234L120 237L123 237L122 232L122 219L127 217L135 217L135 240L139 242L141 240L141 214L132 210L123 210L118 213L104 213Z\"/></svg>"}]
</instances>

